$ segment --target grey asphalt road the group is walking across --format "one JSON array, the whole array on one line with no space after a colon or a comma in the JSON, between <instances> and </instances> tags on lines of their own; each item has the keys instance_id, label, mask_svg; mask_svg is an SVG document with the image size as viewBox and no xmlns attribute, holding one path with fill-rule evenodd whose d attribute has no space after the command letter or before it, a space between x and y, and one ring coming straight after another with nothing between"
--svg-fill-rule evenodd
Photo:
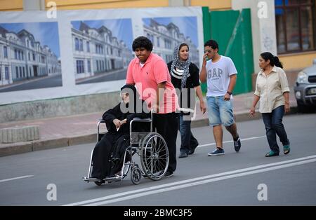
<instances>
[{"instance_id":1,"label":"grey asphalt road the group is walking across","mask_svg":"<svg viewBox=\"0 0 316 220\"><path fill-rule=\"evenodd\" d=\"M291 153L271 158L264 157L261 120L237 124L239 153L225 131L225 156L207 156L214 148L210 128L192 129L200 142L195 154L178 159L173 177L139 185L129 176L103 186L82 181L95 143L2 157L0 205L316 205L315 121L316 114L284 117ZM56 200L47 199L48 184L55 184Z\"/></svg>"}]
</instances>

